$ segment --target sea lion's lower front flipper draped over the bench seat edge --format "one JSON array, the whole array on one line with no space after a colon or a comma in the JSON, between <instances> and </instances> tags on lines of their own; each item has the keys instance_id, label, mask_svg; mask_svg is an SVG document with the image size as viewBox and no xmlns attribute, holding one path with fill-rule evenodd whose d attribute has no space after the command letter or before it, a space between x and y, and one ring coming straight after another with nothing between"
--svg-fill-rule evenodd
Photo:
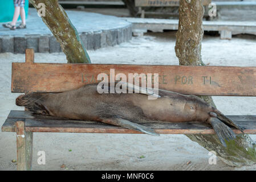
<instances>
[{"instance_id":1,"label":"sea lion's lower front flipper draped over the bench seat edge","mask_svg":"<svg viewBox=\"0 0 256 182\"><path fill-rule=\"evenodd\" d=\"M155 131L150 127L139 125L137 123L133 123L123 118L113 117L113 118L101 118L101 119L102 119L101 122L103 123L108 123L110 125L121 126L127 129L141 131L143 133L153 135L153 136L159 136L159 134L155 133Z\"/></svg>"}]
</instances>

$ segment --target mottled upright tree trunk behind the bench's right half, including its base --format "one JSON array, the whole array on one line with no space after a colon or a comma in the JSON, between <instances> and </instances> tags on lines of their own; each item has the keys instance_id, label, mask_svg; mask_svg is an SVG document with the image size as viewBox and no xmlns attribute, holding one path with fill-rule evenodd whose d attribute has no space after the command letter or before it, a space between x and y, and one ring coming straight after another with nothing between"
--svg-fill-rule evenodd
<instances>
[{"instance_id":1,"label":"mottled upright tree trunk behind the bench's right half, including its base","mask_svg":"<svg viewBox=\"0 0 256 182\"><path fill-rule=\"evenodd\" d=\"M180 0L178 32L176 34L176 56L180 65L205 65L201 59L201 41L204 35L202 18L204 7L201 0ZM214 105L212 97L201 97ZM256 163L256 149L248 135L238 135L235 141L227 143L225 148L217 135L188 134L188 138L197 142L229 166L242 166Z\"/></svg>"}]
</instances>

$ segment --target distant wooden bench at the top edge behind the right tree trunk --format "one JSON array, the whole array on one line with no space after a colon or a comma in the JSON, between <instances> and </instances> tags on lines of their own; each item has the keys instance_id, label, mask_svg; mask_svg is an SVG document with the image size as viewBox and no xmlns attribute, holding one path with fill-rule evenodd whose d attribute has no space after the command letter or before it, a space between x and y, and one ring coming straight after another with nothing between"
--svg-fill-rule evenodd
<instances>
[{"instance_id":1,"label":"distant wooden bench at the top edge behind the right tree trunk","mask_svg":"<svg viewBox=\"0 0 256 182\"><path fill-rule=\"evenodd\" d=\"M211 0L202 0L202 5L209 5ZM168 6L180 6L180 0L135 0L135 7L139 7L139 14L141 18L145 18L145 10L143 7L168 7ZM148 14L156 14L151 12ZM164 13L166 14L166 13ZM173 16L175 14L169 13L168 15Z\"/></svg>"}]
</instances>

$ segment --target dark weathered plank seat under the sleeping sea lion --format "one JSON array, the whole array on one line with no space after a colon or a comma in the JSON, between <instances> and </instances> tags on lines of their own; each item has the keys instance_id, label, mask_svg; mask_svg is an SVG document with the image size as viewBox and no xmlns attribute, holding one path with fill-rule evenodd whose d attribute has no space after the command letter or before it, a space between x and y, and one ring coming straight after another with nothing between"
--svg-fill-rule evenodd
<instances>
[{"instance_id":1,"label":"dark weathered plank seat under the sleeping sea lion","mask_svg":"<svg viewBox=\"0 0 256 182\"><path fill-rule=\"evenodd\" d=\"M235 123L246 128L245 134L256 134L256 115L228 115ZM39 114L30 111L11 110L2 131L16 132L17 121L25 121L27 132L55 132L55 133L121 133L140 134L139 131L125 129L123 127L107 125L95 121L69 120ZM160 134L214 134L214 130L205 123L145 123ZM234 129L234 133L241 131Z\"/></svg>"}]
</instances>

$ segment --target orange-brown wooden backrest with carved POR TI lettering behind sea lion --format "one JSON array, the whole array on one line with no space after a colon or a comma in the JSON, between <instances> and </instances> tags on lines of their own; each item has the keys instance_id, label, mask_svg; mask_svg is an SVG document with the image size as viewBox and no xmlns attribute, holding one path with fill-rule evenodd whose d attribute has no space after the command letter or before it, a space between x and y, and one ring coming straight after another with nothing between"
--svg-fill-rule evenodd
<instances>
[{"instance_id":1,"label":"orange-brown wooden backrest with carved POR TI lettering behind sea lion","mask_svg":"<svg viewBox=\"0 0 256 182\"><path fill-rule=\"evenodd\" d=\"M110 69L127 79L129 73L158 73L159 88L182 94L256 96L256 67L34 63L32 49L26 49L26 63L12 65L11 92L64 92L99 82L97 75Z\"/></svg>"}]
</instances>

